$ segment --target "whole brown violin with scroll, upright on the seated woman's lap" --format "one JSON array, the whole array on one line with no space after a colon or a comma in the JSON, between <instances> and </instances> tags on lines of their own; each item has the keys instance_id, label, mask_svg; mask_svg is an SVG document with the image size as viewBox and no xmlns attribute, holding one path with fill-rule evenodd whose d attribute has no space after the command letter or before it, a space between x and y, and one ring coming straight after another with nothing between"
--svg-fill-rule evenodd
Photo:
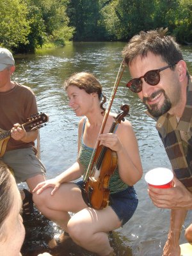
<instances>
[{"instance_id":1,"label":"whole brown violin with scroll, upright on the seated woman's lap","mask_svg":"<svg viewBox=\"0 0 192 256\"><path fill-rule=\"evenodd\" d=\"M125 120L129 113L129 106L121 106L122 112L119 113L113 124L110 133L113 133L116 126ZM109 179L115 172L118 157L115 151L108 147L99 145L95 152L94 163L90 175L84 179L81 193L84 202L94 209L103 209L109 205Z\"/></svg>"}]
</instances>

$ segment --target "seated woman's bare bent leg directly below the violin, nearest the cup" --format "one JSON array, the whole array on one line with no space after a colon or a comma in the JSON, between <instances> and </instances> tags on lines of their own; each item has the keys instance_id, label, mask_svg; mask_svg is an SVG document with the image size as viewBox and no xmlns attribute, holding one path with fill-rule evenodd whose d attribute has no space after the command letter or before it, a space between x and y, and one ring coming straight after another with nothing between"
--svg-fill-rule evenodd
<instances>
[{"instance_id":1,"label":"seated woman's bare bent leg directly below the violin, nearest the cup","mask_svg":"<svg viewBox=\"0 0 192 256\"><path fill-rule=\"evenodd\" d=\"M68 221L70 237L90 252L99 255L113 255L113 248L109 244L108 232L119 228L121 225L118 216L107 207L103 210L86 208L77 212Z\"/></svg>"}]
</instances>

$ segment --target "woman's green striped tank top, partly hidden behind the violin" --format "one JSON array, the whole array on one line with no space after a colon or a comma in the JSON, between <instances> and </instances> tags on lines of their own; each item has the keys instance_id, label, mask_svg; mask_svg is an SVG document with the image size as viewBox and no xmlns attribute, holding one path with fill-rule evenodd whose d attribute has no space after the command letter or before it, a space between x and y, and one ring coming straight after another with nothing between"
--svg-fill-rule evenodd
<instances>
[{"instance_id":1,"label":"woman's green striped tank top, partly hidden behind the violin","mask_svg":"<svg viewBox=\"0 0 192 256\"><path fill-rule=\"evenodd\" d=\"M86 173L86 170L90 163L90 159L93 154L93 148L87 147L83 141L83 133L84 133L85 123L86 123L86 118L85 118L84 124L83 124L83 131L81 134L81 143L80 143L80 150L79 150L79 156L78 156L79 163L81 163L84 168L84 175ZM84 178L84 175L83 175L83 178ZM115 169L115 172L113 173L113 175L111 175L111 177L109 179L110 194L117 193L117 192L122 191L128 187L129 186L126 183L124 183L122 181L122 179L120 179L120 175L118 173L118 166L117 166L117 168Z\"/></svg>"}]
</instances>

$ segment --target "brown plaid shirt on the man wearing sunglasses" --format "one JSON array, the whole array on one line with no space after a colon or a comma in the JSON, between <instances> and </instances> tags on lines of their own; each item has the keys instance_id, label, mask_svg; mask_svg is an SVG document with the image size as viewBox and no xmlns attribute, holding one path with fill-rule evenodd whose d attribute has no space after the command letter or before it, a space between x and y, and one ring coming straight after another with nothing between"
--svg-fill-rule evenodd
<instances>
[{"instance_id":1,"label":"brown plaid shirt on the man wearing sunglasses","mask_svg":"<svg viewBox=\"0 0 192 256\"><path fill-rule=\"evenodd\" d=\"M157 119L156 129L177 179L192 191L192 77L189 79L186 106L179 123L176 116L164 113Z\"/></svg>"}]
</instances>

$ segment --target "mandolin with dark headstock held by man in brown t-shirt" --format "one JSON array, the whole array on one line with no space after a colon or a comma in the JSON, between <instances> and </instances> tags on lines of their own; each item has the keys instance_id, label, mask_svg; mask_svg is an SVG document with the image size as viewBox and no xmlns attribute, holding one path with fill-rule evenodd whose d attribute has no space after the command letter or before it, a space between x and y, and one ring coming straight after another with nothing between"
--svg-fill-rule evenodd
<instances>
[{"instance_id":1,"label":"mandolin with dark headstock held by man in brown t-shirt","mask_svg":"<svg viewBox=\"0 0 192 256\"><path fill-rule=\"evenodd\" d=\"M21 128L25 129L26 131L35 131L36 129L40 129L41 127L44 127L44 123L49 121L49 116L45 115L45 113L41 114L34 114L31 115L31 118L28 118L26 120L26 123L20 125ZM0 128L0 157L4 155L4 152L6 150L6 145L8 143L8 140L10 140L11 137L11 130L4 131Z\"/></svg>"}]
</instances>

